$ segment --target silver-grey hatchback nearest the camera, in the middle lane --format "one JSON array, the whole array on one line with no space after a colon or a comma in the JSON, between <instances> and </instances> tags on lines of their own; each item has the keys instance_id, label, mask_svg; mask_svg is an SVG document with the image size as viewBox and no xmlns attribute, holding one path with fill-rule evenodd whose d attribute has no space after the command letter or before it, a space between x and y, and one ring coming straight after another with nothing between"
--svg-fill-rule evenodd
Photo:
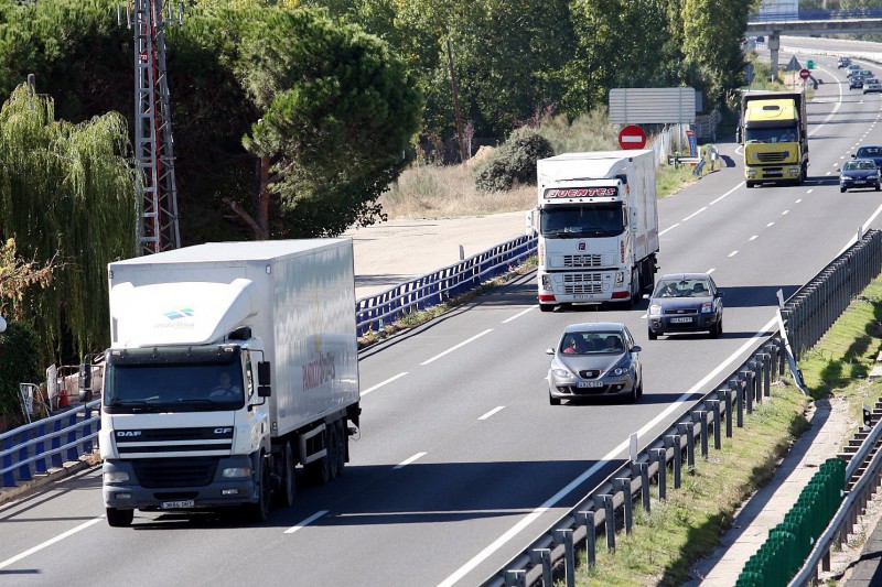
<instances>
[{"instance_id":1,"label":"silver-grey hatchback nearest the camera, in the middle lane","mask_svg":"<svg viewBox=\"0 0 882 587\"><path fill-rule=\"evenodd\" d=\"M548 369L548 401L643 395L641 347L617 322L571 324L563 329Z\"/></svg>"}]
</instances>

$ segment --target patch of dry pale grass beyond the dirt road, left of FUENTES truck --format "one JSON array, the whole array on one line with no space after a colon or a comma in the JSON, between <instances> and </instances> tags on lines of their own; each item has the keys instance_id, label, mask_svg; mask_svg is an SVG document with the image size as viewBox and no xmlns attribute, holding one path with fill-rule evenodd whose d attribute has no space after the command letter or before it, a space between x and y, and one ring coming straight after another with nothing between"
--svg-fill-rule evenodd
<instances>
[{"instance_id":1,"label":"patch of dry pale grass beyond the dirt road, left of FUENTES truck","mask_svg":"<svg viewBox=\"0 0 882 587\"><path fill-rule=\"evenodd\" d=\"M480 192L467 165L412 165L379 198L390 219L459 218L528 210L536 205L536 186L509 192Z\"/></svg>"}]
</instances>

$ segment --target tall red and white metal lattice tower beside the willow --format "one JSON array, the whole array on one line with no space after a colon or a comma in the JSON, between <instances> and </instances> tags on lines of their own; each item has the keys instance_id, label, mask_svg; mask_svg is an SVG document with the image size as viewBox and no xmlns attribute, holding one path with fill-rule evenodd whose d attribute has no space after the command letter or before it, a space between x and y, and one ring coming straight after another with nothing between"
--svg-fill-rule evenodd
<instances>
[{"instance_id":1,"label":"tall red and white metal lattice tower beside the willow","mask_svg":"<svg viewBox=\"0 0 882 587\"><path fill-rule=\"evenodd\" d=\"M135 160L138 254L181 246L174 141L165 75L162 0L132 0L135 29ZM183 10L183 9L182 9ZM169 22L180 23L169 19Z\"/></svg>"}]
</instances>

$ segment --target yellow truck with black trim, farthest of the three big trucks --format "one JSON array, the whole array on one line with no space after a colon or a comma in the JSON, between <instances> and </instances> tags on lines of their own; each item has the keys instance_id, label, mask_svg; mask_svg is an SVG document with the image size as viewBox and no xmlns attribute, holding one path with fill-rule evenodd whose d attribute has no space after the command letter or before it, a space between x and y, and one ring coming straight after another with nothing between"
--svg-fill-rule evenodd
<instances>
[{"instance_id":1,"label":"yellow truck with black trim, farthest of the three big trucks","mask_svg":"<svg viewBox=\"0 0 882 587\"><path fill-rule=\"evenodd\" d=\"M746 91L736 140L744 145L747 187L800 184L808 173L808 120L803 91Z\"/></svg>"}]
</instances>

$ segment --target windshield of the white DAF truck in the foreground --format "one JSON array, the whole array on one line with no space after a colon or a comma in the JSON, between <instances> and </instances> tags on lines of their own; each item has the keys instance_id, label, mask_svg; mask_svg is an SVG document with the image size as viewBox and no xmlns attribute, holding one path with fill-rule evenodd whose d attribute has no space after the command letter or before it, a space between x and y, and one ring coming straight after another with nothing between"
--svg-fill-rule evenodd
<instances>
[{"instance_id":1,"label":"windshield of the white DAF truck in the foreground","mask_svg":"<svg viewBox=\"0 0 882 587\"><path fill-rule=\"evenodd\" d=\"M238 361L107 366L105 410L110 413L236 410L245 402Z\"/></svg>"}]
</instances>

